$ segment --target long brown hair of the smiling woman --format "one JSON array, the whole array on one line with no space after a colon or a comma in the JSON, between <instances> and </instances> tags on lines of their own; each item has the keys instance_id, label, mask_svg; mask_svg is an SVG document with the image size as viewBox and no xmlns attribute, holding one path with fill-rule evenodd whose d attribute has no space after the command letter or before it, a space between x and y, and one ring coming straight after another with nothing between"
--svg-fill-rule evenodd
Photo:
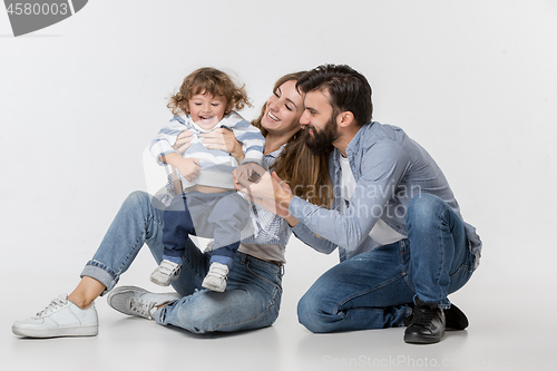
<instances>
[{"instance_id":1,"label":"long brown hair of the smiling woman","mask_svg":"<svg viewBox=\"0 0 557 371\"><path fill-rule=\"evenodd\" d=\"M281 77L275 82L273 91L276 91L286 81L297 81L304 74L305 71L301 71ZM267 130L261 125L266 108L267 105L263 105L260 117L252 121L263 136L267 135ZM294 195L314 205L330 207L333 201L333 192L329 178L329 155L313 155L305 145L306 136L307 131L303 129L294 134L282 150L281 156L273 164L272 170L276 172L281 179L289 183Z\"/></svg>"}]
</instances>

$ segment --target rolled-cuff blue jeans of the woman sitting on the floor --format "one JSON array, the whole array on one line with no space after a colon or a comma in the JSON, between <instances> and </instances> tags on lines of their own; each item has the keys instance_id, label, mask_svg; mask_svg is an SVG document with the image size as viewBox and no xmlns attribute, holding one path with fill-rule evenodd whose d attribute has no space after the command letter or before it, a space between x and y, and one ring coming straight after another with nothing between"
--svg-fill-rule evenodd
<instances>
[{"instance_id":1,"label":"rolled-cuff blue jeans of the woman sitting on the floor","mask_svg":"<svg viewBox=\"0 0 557 371\"><path fill-rule=\"evenodd\" d=\"M105 294L114 289L144 244L160 263L164 208L163 203L144 192L130 194L81 276L101 282L107 287ZM273 324L281 304L281 267L238 252L226 291L217 293L201 285L209 260L211 253L203 254L187 241L182 273L173 282L173 287L184 297L157 311L156 321L195 333L252 330Z\"/></svg>"}]
</instances>

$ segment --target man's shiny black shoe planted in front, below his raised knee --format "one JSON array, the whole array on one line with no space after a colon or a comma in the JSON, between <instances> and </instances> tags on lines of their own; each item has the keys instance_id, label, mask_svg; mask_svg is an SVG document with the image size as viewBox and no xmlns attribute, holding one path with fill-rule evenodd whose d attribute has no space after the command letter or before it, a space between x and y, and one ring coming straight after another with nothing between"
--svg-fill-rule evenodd
<instances>
[{"instance_id":1,"label":"man's shiny black shoe planted in front, below his raised knee","mask_svg":"<svg viewBox=\"0 0 557 371\"><path fill-rule=\"evenodd\" d=\"M417 299L412 320L404 331L404 341L412 344L438 343L444 336L444 313L437 303Z\"/></svg>"}]
</instances>

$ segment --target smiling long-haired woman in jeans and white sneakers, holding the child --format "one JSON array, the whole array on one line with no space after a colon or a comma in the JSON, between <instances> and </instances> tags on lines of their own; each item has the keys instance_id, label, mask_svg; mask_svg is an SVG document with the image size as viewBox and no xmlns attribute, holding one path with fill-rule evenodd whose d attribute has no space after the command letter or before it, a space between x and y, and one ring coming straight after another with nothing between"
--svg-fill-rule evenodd
<instances>
[{"instance_id":1,"label":"smiling long-haired woman in jeans and white sneakers, holding the child","mask_svg":"<svg viewBox=\"0 0 557 371\"><path fill-rule=\"evenodd\" d=\"M322 170L326 169L326 162L310 155L300 129L304 106L295 82L303 74L278 79L260 118L253 123L265 136L265 165L289 180L301 196L329 183L326 176L323 177L326 170ZM222 129L219 135L208 134L205 140L241 162L241 144L232 133ZM188 135L184 133L175 147L184 150L188 144ZM309 201L328 204L329 195L311 193ZM113 290L144 243L157 263L162 261L164 205L144 192L133 193L121 205L97 253L87 263L77 287L68 296L55 299L36 316L16 322L13 333L32 338L96 335L98 318L94 300L108 292L109 305L125 314L195 333L232 332L273 324L278 315L284 246L291 231L283 218L258 206L253 207L257 213L254 219L257 232L242 242L224 293L201 290L211 252L202 253L192 241L187 244L180 276L173 282L176 293L154 294L134 286Z\"/></svg>"}]
</instances>

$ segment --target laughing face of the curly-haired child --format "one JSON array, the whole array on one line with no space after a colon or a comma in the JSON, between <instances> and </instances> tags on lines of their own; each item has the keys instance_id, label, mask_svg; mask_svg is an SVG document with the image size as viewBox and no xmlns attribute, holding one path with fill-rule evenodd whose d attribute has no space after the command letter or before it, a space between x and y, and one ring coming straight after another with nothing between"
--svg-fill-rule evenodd
<instances>
[{"instance_id":1,"label":"laughing face of the curly-haired child","mask_svg":"<svg viewBox=\"0 0 557 371\"><path fill-rule=\"evenodd\" d=\"M194 123L202 129L209 130L223 119L228 101L224 96L198 94L193 96L187 105Z\"/></svg>"}]
</instances>

